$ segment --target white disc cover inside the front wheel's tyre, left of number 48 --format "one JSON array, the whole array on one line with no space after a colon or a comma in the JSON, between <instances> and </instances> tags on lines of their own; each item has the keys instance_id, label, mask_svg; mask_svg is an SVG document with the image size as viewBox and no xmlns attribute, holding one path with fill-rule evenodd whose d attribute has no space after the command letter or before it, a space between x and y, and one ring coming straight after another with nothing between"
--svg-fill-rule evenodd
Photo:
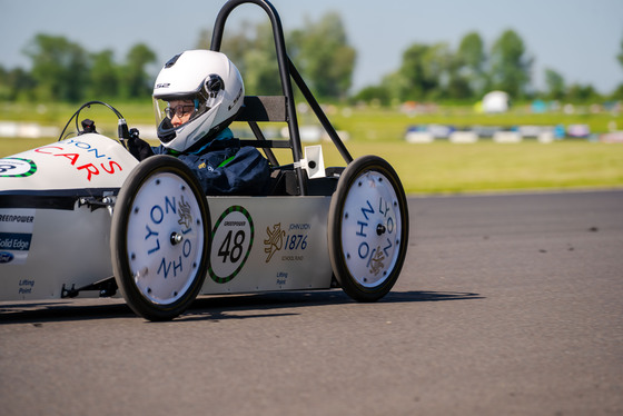
<instances>
[{"instance_id":1,"label":"white disc cover inside the front wheel's tyre, left of number 48","mask_svg":"<svg viewBox=\"0 0 623 416\"><path fill-rule=\"evenodd\" d=\"M204 244L201 210L178 176L149 177L137 192L128 218L127 256L140 294L168 305L188 290Z\"/></svg>"}]
</instances>

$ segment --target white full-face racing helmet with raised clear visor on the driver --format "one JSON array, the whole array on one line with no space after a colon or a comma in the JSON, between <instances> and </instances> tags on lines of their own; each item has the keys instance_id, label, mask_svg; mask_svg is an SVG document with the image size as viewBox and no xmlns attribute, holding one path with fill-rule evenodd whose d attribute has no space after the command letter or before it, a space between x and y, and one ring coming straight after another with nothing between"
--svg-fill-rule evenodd
<instances>
[{"instance_id":1,"label":"white full-face racing helmet with raised clear visor on the driver","mask_svg":"<svg viewBox=\"0 0 623 416\"><path fill-rule=\"evenodd\" d=\"M236 66L220 52L189 50L171 58L154 86L158 138L166 148L186 151L209 141L236 118L245 86ZM169 101L192 101L190 118L174 126Z\"/></svg>"}]
</instances>

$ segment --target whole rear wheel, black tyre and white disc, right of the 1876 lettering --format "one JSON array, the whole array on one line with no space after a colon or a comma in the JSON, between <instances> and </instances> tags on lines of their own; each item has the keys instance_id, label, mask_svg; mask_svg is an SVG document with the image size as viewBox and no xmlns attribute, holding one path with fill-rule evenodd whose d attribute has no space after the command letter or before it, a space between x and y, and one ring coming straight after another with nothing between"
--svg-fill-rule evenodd
<instances>
[{"instance_id":1,"label":"whole rear wheel, black tyre and white disc, right of the 1876 lettering","mask_svg":"<svg viewBox=\"0 0 623 416\"><path fill-rule=\"evenodd\" d=\"M408 208L396 171L364 156L342 174L328 215L333 271L358 301L376 301L394 286L408 246Z\"/></svg>"}]
</instances>

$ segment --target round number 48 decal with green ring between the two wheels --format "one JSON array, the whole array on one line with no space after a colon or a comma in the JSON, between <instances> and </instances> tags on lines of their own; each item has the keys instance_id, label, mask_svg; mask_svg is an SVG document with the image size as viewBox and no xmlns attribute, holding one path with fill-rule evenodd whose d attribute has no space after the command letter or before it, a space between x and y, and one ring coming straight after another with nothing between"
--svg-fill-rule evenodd
<instances>
[{"instance_id":1,"label":"round number 48 decal with green ring between the two wheels","mask_svg":"<svg viewBox=\"0 0 623 416\"><path fill-rule=\"evenodd\" d=\"M209 275L217 284L234 279L249 258L255 227L249 212L239 205L227 208L212 230Z\"/></svg>"}]
</instances>

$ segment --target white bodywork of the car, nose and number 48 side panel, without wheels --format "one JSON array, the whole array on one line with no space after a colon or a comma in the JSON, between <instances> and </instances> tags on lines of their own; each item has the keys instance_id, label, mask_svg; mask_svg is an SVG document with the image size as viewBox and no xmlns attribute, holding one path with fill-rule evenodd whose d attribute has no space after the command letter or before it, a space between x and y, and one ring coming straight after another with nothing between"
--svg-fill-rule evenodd
<instances>
[{"instance_id":1,"label":"white bodywork of the car, nose and number 48 side panel, without wheels","mask_svg":"<svg viewBox=\"0 0 623 416\"><path fill-rule=\"evenodd\" d=\"M99 296L80 289L113 275L112 202L137 165L96 133L0 159L0 300ZM207 200L212 242L200 294L330 287L330 197ZM159 245L145 236L147 251ZM175 264L165 266L175 273Z\"/></svg>"}]
</instances>

